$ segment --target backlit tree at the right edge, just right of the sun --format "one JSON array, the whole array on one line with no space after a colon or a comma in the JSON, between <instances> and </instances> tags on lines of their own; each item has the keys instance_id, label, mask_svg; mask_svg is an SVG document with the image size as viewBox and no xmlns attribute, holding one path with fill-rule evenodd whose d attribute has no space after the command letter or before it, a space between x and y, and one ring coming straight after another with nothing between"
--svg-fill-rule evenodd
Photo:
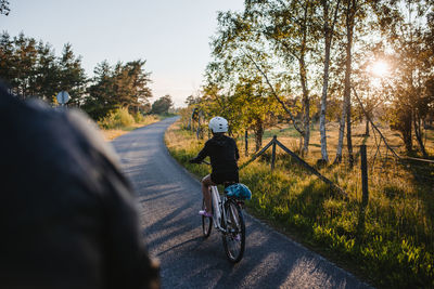
<instances>
[{"instance_id":1,"label":"backlit tree at the right edge, just right of the sun","mask_svg":"<svg viewBox=\"0 0 434 289\"><path fill-rule=\"evenodd\" d=\"M434 2L385 1L375 9L395 68L387 90L391 127L400 132L408 152L413 150L416 139L419 150L427 157L423 123L434 105Z\"/></svg>"}]
</instances>

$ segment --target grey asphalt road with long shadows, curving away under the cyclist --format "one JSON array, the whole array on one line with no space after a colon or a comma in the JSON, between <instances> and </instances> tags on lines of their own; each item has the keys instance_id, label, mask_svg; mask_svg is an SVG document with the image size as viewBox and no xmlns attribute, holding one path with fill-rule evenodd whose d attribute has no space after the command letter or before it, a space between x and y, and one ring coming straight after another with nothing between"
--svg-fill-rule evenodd
<instances>
[{"instance_id":1,"label":"grey asphalt road with long shadows, curving away under the cyclist","mask_svg":"<svg viewBox=\"0 0 434 289\"><path fill-rule=\"evenodd\" d=\"M161 261L163 288L370 288L250 215L244 258L230 264L219 234L201 237L200 183L165 148L164 131L174 121L112 143L137 191L143 235Z\"/></svg>"}]
</instances>

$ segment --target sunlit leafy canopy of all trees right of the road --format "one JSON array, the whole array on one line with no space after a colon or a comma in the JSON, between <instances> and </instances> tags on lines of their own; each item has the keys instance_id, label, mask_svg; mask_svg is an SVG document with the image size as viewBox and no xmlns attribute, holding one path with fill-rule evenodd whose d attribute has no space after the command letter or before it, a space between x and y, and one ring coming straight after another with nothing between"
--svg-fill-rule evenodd
<instances>
[{"instance_id":1,"label":"sunlit leafy canopy of all trees right of the road","mask_svg":"<svg viewBox=\"0 0 434 289\"><path fill-rule=\"evenodd\" d=\"M336 160L342 158L346 130L350 163L353 123L388 111L391 127L401 131L408 150L416 139L426 156L422 135L425 120L433 115L433 27L429 0L245 1L242 12L218 14L214 60L207 66L199 106L208 117L227 117L233 133L260 134L253 123L267 119L265 115L288 119L303 136L305 153L311 121L319 120L324 161L327 122L340 115ZM366 69L369 62L382 60L393 68L376 88L372 83L378 79ZM362 96L369 116L361 117L354 90ZM264 105L270 109L263 115ZM407 136L404 130L409 130Z\"/></svg>"}]
</instances>

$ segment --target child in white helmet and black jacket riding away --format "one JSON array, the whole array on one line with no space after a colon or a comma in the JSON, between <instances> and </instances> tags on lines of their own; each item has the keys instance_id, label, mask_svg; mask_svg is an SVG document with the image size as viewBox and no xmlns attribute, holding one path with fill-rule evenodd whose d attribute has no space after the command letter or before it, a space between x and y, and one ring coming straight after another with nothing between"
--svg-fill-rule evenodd
<instances>
[{"instance_id":1,"label":"child in white helmet and black jacket riding away","mask_svg":"<svg viewBox=\"0 0 434 289\"><path fill-rule=\"evenodd\" d=\"M202 194L205 199L205 210L199 211L204 216L213 216L209 186L224 183L239 183L238 165L240 158L237 143L232 137L225 135L228 132L228 121L222 117L214 117L208 124L213 132L204 148L190 160L200 163L207 156L210 159L212 173L202 179Z\"/></svg>"}]
</instances>

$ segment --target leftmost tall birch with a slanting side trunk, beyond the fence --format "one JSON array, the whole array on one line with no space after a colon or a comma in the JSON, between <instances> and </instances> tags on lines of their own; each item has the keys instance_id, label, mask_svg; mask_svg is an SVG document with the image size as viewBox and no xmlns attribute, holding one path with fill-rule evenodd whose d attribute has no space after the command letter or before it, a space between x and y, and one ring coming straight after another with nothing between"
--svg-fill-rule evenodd
<instances>
[{"instance_id":1,"label":"leftmost tall birch with a slanting side trunk, beyond the fence","mask_svg":"<svg viewBox=\"0 0 434 289\"><path fill-rule=\"evenodd\" d=\"M235 27L234 30L237 31L237 34L226 35L234 36L231 40L237 42L238 45L251 42L251 47L255 47L259 42L265 43L263 47L269 49L270 58L279 58L280 65L283 69L286 69L286 76L295 73L302 95L303 128L298 127L291 109L282 100L282 95L279 94L280 91L277 87L281 86L272 83L273 76L265 71L264 62L255 62L252 57L253 53L245 49L245 53L265 78L272 95L289 114L295 129L303 135L301 152L307 154L310 140L310 91L307 60L312 44L310 21L314 15L314 1L250 0L245 3L245 11L241 15L231 18L226 17L225 23L232 19L232 27ZM294 65L294 61L296 65Z\"/></svg>"}]
</instances>

